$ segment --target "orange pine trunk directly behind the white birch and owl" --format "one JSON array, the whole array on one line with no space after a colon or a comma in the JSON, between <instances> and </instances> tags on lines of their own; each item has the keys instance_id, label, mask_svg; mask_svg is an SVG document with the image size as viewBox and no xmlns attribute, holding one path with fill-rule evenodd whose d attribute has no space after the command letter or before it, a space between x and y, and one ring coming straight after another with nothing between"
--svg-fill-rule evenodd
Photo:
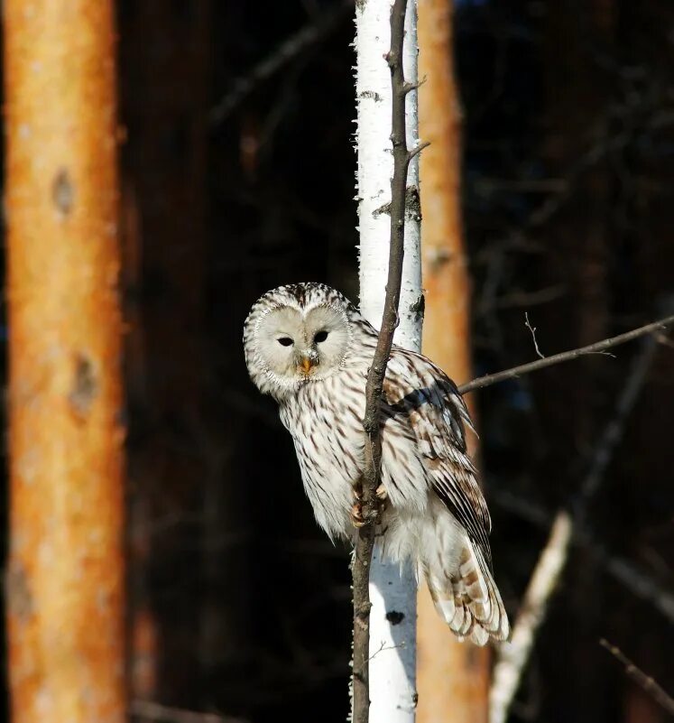
<instances>
[{"instance_id":1,"label":"orange pine trunk directly behind the white birch and owl","mask_svg":"<svg viewBox=\"0 0 674 723\"><path fill-rule=\"evenodd\" d=\"M454 77L452 3L419 0L423 351L457 383L471 378L470 280L461 221L461 107ZM472 450L475 453L475 449ZM419 723L487 719L489 652L457 643L420 588Z\"/></svg>"}]
</instances>

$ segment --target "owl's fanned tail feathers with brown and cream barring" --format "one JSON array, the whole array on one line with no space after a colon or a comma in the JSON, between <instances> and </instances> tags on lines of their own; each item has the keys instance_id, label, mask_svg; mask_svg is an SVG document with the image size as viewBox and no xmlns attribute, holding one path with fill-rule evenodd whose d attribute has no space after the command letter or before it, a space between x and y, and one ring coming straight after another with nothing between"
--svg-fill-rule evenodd
<instances>
[{"instance_id":1,"label":"owl's fanned tail feathers with brown and cream barring","mask_svg":"<svg viewBox=\"0 0 674 723\"><path fill-rule=\"evenodd\" d=\"M482 552L463 530L442 534L436 528L436 533L435 549L424 545L420 562L439 615L459 640L469 637L476 645L490 637L505 640L508 616Z\"/></svg>"}]
</instances>

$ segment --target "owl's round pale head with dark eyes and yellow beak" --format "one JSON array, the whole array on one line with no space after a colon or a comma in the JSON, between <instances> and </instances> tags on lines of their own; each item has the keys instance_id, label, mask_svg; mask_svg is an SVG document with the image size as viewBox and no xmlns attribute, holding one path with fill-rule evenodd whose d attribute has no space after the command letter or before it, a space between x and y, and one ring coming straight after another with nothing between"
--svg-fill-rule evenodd
<instances>
[{"instance_id":1,"label":"owl's round pale head with dark eyes and yellow beak","mask_svg":"<svg viewBox=\"0 0 674 723\"><path fill-rule=\"evenodd\" d=\"M293 283L266 292L244 325L245 363L254 384L281 401L319 383L345 363L353 321L341 293L322 283Z\"/></svg>"}]
</instances>

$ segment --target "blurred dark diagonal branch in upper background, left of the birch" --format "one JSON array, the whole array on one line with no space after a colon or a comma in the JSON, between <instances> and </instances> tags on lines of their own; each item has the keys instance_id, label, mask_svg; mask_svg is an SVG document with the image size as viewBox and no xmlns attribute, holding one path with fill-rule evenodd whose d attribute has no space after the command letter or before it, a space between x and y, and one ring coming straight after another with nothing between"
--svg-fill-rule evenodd
<instances>
[{"instance_id":1,"label":"blurred dark diagonal branch in upper background, left of the birch","mask_svg":"<svg viewBox=\"0 0 674 723\"><path fill-rule=\"evenodd\" d=\"M321 14L318 20L305 25L283 41L272 55L254 65L245 76L236 79L233 88L210 111L208 120L211 125L223 123L263 82L276 75L303 51L326 38L349 14L353 6L353 0L345 0L337 5L337 8Z\"/></svg>"}]
</instances>

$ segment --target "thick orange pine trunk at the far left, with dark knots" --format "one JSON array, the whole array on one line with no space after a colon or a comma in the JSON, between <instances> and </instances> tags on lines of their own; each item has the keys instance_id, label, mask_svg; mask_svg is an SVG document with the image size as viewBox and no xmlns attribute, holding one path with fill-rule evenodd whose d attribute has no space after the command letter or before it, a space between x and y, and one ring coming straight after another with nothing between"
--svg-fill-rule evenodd
<instances>
[{"instance_id":1,"label":"thick orange pine trunk at the far left, with dark knots","mask_svg":"<svg viewBox=\"0 0 674 723\"><path fill-rule=\"evenodd\" d=\"M125 720L112 11L4 5L14 723Z\"/></svg>"}]
</instances>

